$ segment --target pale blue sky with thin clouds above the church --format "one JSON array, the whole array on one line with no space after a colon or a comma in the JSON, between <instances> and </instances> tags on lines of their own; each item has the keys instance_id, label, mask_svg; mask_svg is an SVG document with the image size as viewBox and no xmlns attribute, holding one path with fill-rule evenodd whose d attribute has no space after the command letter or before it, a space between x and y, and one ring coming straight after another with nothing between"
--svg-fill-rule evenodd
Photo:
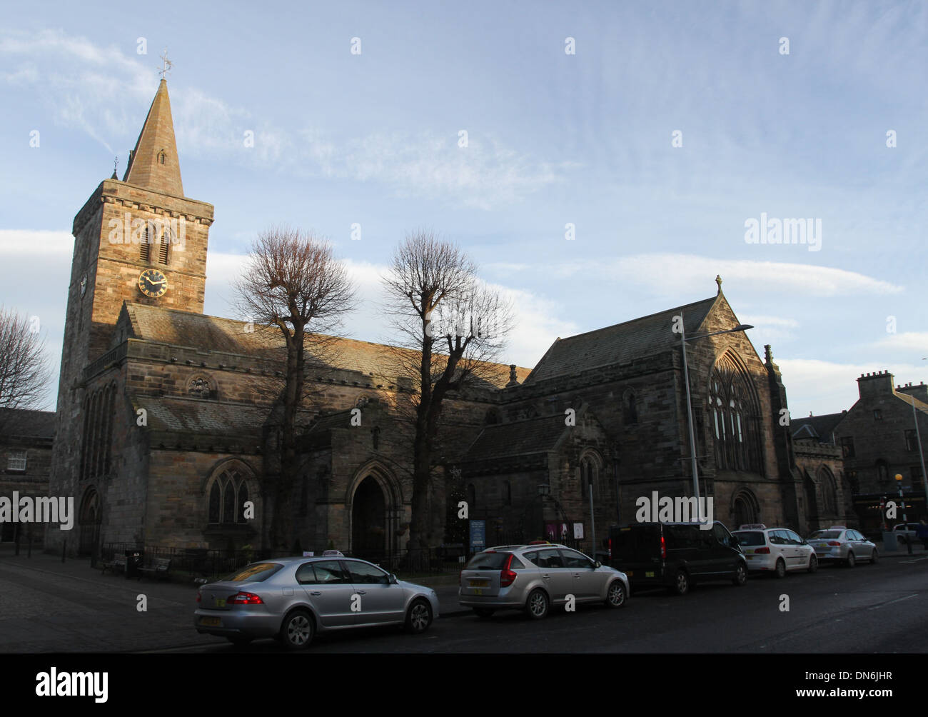
<instances>
[{"instance_id":1,"label":"pale blue sky with thin clouds above the church","mask_svg":"<svg viewBox=\"0 0 928 717\"><path fill-rule=\"evenodd\" d=\"M793 416L849 408L861 372L928 379L922 3L5 14L0 303L42 320L56 366L71 221L117 155L122 176L167 46L184 189L215 206L207 313L234 315L249 241L287 223L350 262L364 299L351 335L389 340L378 277L406 231L428 227L516 304L507 362L711 296L721 274L758 353L773 346ZM762 214L820 220L818 251L748 243Z\"/></svg>"}]
</instances>

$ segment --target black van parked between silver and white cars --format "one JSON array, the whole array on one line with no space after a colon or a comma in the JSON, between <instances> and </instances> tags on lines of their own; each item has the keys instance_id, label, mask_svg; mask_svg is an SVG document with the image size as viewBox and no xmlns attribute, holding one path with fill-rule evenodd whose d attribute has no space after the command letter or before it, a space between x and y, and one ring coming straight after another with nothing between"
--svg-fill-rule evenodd
<instances>
[{"instance_id":1,"label":"black van parked between silver and white cars","mask_svg":"<svg viewBox=\"0 0 928 717\"><path fill-rule=\"evenodd\" d=\"M609 565L628 576L632 590L664 586L684 595L705 580L748 580L738 539L717 520L695 523L635 523L609 530Z\"/></svg>"}]
</instances>

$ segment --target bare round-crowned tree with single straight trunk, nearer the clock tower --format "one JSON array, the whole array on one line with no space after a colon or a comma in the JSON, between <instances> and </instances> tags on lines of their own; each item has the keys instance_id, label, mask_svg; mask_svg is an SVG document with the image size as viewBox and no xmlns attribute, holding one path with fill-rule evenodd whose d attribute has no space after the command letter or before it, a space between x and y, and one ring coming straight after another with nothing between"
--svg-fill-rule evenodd
<instances>
[{"instance_id":1,"label":"bare round-crowned tree with single straight trunk, nearer the clock tower","mask_svg":"<svg viewBox=\"0 0 928 717\"><path fill-rule=\"evenodd\" d=\"M270 538L274 548L287 550L293 538L290 495L298 469L297 414L305 394L307 355L318 356L320 346L332 341L326 334L339 331L343 315L354 306L354 285L328 242L285 227L258 235L235 289L238 309L255 329L283 340L279 355L285 369L277 398L280 467L270 491Z\"/></svg>"}]
</instances>

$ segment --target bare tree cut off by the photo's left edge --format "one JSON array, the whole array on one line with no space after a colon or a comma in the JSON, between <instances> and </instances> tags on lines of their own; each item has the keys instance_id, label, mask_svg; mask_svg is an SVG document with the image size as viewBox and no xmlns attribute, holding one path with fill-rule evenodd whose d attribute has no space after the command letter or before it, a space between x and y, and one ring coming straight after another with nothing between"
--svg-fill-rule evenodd
<instances>
[{"instance_id":1,"label":"bare tree cut off by the photo's left edge","mask_svg":"<svg viewBox=\"0 0 928 717\"><path fill-rule=\"evenodd\" d=\"M35 408L45 396L50 377L38 319L0 306L0 408Z\"/></svg>"}]
</instances>

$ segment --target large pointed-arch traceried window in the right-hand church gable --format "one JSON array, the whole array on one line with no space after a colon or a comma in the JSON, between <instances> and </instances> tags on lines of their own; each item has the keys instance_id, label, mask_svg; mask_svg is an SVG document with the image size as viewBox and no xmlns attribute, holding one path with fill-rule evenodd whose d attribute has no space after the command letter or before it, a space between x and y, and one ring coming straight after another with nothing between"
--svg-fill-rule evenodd
<instances>
[{"instance_id":1,"label":"large pointed-arch traceried window in the right-hand church gable","mask_svg":"<svg viewBox=\"0 0 928 717\"><path fill-rule=\"evenodd\" d=\"M709 377L709 430L715 443L715 466L763 474L760 411L750 378L728 355Z\"/></svg>"}]
</instances>

